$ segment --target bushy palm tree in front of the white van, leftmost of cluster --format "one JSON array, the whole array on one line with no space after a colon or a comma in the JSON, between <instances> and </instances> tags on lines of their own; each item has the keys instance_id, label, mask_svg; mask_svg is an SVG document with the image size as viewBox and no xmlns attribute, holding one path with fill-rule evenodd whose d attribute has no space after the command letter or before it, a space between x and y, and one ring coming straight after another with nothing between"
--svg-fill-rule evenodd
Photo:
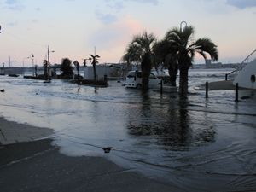
<instances>
[{"instance_id":1,"label":"bushy palm tree in front of the white van, leftmost of cluster","mask_svg":"<svg viewBox=\"0 0 256 192\"><path fill-rule=\"evenodd\" d=\"M152 67L152 49L155 42L156 38L153 33L143 32L142 35L137 35L132 39L123 56L123 60L127 63L141 63L143 90L148 90L148 78Z\"/></svg>"}]
</instances>

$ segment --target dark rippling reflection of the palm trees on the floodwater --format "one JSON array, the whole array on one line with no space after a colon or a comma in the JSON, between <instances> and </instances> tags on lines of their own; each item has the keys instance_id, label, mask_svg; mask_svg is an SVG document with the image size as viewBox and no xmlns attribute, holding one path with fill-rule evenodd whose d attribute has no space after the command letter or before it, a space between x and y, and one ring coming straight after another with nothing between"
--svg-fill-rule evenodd
<instances>
[{"instance_id":1,"label":"dark rippling reflection of the palm trees on the floodwater","mask_svg":"<svg viewBox=\"0 0 256 192\"><path fill-rule=\"evenodd\" d=\"M193 119L188 107L188 100L170 96L163 104L154 96L143 94L137 110L131 108L128 133L140 139L150 137L151 142L166 150L188 150L191 145L214 142L211 120L202 124L200 119Z\"/></svg>"}]
</instances>

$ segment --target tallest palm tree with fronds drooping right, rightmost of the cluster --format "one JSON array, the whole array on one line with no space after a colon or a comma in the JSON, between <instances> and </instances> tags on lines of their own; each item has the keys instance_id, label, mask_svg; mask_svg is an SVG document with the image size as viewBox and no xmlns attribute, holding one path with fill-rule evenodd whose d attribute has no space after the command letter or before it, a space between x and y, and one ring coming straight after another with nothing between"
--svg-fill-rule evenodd
<instances>
[{"instance_id":1,"label":"tallest palm tree with fronds drooping right, rightmost of the cluster","mask_svg":"<svg viewBox=\"0 0 256 192\"><path fill-rule=\"evenodd\" d=\"M209 55L212 61L218 61L217 45L212 43L209 38L199 38L193 40L194 27L186 26L183 30L173 28L166 32L166 41L172 44L176 51L177 64L180 72L179 95L187 97L188 94L188 76L189 67L192 66L195 54L198 53L207 59Z\"/></svg>"}]
</instances>

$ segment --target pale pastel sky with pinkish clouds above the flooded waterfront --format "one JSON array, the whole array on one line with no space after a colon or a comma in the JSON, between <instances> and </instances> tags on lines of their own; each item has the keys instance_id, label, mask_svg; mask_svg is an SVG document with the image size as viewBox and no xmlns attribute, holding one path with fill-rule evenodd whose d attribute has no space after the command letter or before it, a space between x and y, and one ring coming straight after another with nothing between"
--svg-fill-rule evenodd
<instances>
[{"instance_id":1,"label":"pale pastel sky with pinkish clouds above the flooded waterfront","mask_svg":"<svg viewBox=\"0 0 256 192\"><path fill-rule=\"evenodd\" d=\"M0 64L21 67L100 55L117 63L134 35L160 40L182 21L194 38L211 38L219 62L241 62L256 49L256 0L0 0ZM54 52L52 52L54 51ZM195 63L203 63L201 57Z\"/></svg>"}]
</instances>

